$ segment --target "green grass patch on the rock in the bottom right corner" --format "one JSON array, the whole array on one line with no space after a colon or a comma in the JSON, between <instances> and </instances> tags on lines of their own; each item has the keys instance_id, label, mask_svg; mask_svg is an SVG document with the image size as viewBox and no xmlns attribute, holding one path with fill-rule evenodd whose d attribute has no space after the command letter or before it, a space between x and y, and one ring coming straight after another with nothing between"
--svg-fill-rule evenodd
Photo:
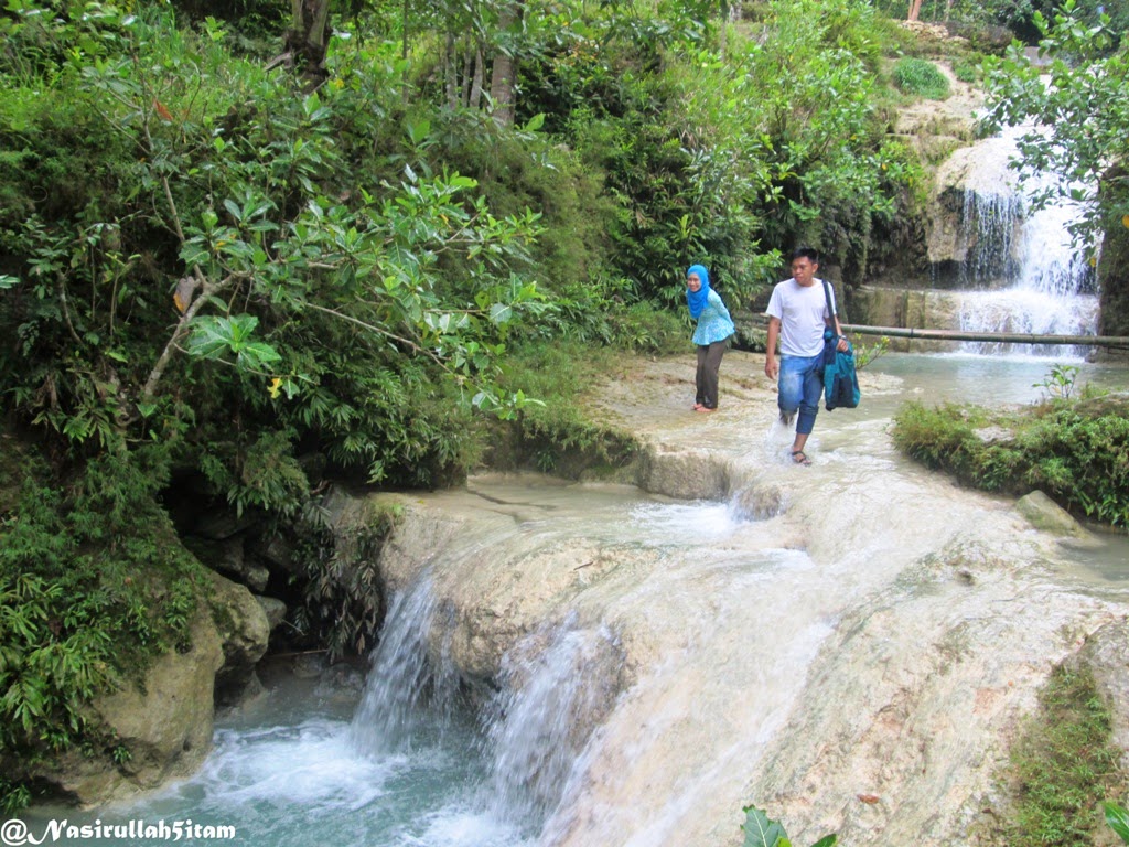
<instances>
[{"instance_id":1,"label":"green grass patch on the rock in the bottom right corner","mask_svg":"<svg viewBox=\"0 0 1129 847\"><path fill-rule=\"evenodd\" d=\"M1099 803L1123 779L1111 715L1093 672L1057 667L1040 711L1012 751L1015 815L1003 827L1008 847L1094 844L1104 829Z\"/></svg>"}]
</instances>

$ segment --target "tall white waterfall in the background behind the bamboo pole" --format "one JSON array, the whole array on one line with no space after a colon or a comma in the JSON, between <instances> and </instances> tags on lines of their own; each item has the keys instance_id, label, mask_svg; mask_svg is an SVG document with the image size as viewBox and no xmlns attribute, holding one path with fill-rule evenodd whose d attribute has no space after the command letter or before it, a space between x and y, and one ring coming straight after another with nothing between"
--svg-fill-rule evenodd
<instances>
[{"instance_id":1,"label":"tall white waterfall in the background behind the bamboo pole","mask_svg":"<svg viewBox=\"0 0 1129 847\"><path fill-rule=\"evenodd\" d=\"M1004 171L1016 152L1012 130L1004 145L983 148L984 169ZM995 151L995 152L994 152ZM1006 155L1004 155L1006 154ZM1014 187L1006 180L965 183L959 242L964 251L959 283L960 329L970 332L1012 332L1093 335L1097 328L1097 297L1093 269L1084 248L1073 244L1070 228L1082 207L1070 201L1038 208L1034 198L1056 185L1050 175ZM980 355L1019 353L1083 358L1087 348L1009 346L968 342Z\"/></svg>"}]
</instances>

